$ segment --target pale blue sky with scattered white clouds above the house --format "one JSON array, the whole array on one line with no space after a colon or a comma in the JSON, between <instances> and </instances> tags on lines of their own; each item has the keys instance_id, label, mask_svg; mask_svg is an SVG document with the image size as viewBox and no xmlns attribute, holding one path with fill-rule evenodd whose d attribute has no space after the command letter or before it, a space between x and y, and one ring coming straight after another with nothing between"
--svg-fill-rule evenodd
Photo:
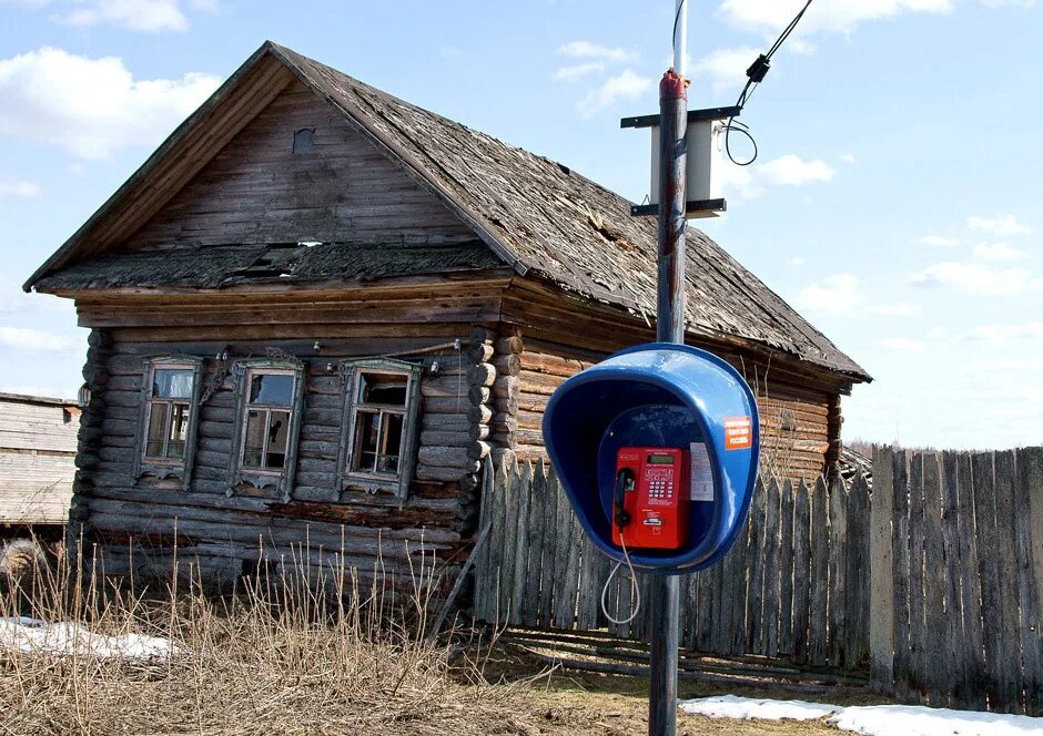
<instances>
[{"instance_id":1,"label":"pale blue sky with scattered white clouds above the house","mask_svg":"<svg viewBox=\"0 0 1043 736\"><path fill-rule=\"evenodd\" d=\"M691 0L691 108L801 0ZM21 284L265 39L641 201L674 0L0 0L0 390L75 396L85 330ZM814 0L693 225L873 376L844 438L1043 442L1035 0Z\"/></svg>"}]
</instances>

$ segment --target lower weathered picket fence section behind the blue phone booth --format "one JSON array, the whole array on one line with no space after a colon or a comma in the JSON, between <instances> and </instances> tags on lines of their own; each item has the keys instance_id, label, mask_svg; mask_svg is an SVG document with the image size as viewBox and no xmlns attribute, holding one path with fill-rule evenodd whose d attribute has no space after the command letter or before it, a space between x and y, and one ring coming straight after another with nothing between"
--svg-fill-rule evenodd
<instances>
[{"instance_id":1,"label":"lower weathered picket fence section behind the blue phone booth","mask_svg":"<svg viewBox=\"0 0 1043 736\"><path fill-rule=\"evenodd\" d=\"M608 628L648 637L648 580L628 625L600 609L612 562L584 535L553 470L524 463L495 470L483 519L492 523L477 561L475 613L490 623L561 630ZM758 482L749 521L722 564L681 579L681 644L728 655L784 656L853 668L869 661L869 489ZM607 602L626 619L634 601L625 570Z\"/></svg>"}]
</instances>

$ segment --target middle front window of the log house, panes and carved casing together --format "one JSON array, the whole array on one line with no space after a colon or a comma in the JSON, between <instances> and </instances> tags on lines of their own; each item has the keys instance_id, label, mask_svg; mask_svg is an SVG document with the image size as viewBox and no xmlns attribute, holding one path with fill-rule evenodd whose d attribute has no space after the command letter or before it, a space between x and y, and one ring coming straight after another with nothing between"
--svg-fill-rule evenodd
<instances>
[{"instance_id":1,"label":"middle front window of the log house, panes and carved casing together","mask_svg":"<svg viewBox=\"0 0 1043 736\"><path fill-rule=\"evenodd\" d=\"M234 368L235 425L230 494L250 483L290 500L304 411L304 366L270 358L240 360Z\"/></svg>"}]
</instances>

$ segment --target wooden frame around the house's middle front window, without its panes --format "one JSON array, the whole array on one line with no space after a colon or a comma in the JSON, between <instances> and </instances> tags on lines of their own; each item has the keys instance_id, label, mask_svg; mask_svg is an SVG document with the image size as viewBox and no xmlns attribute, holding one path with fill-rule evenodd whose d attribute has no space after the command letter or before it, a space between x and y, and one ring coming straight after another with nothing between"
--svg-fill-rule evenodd
<instances>
[{"instance_id":1,"label":"wooden frame around the house's middle front window, without its panes","mask_svg":"<svg viewBox=\"0 0 1043 736\"><path fill-rule=\"evenodd\" d=\"M235 375L235 415L232 428L232 450L229 458L229 495L235 494L237 485L249 483L257 489L274 489L284 501L290 501L297 467L297 444L304 418L304 364L297 360L252 358L237 360L232 369ZM250 379L255 375L293 376L293 399L288 407L290 428L286 437L286 462L279 470L246 468L243 452L246 439L246 412L250 410ZM264 407L262 407L264 408Z\"/></svg>"}]
</instances>

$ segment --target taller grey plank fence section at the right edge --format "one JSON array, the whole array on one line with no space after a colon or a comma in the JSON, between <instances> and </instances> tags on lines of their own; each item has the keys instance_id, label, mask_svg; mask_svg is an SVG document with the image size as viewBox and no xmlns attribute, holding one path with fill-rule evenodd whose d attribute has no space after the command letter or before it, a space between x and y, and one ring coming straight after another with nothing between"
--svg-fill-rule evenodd
<instances>
[{"instance_id":1,"label":"taller grey plank fence section at the right edge","mask_svg":"<svg viewBox=\"0 0 1043 736\"><path fill-rule=\"evenodd\" d=\"M873 678L931 705L1043 714L1043 448L878 450Z\"/></svg>"}]
</instances>

